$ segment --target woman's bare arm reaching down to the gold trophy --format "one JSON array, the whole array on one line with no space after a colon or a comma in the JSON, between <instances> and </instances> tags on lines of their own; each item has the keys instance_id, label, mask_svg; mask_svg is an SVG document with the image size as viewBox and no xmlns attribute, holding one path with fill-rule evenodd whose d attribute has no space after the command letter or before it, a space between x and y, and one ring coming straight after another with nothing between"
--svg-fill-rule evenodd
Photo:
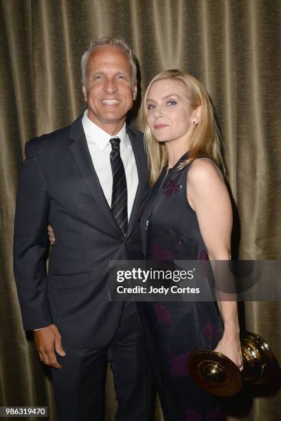
<instances>
[{"instance_id":1,"label":"woman's bare arm reaching down to the gold trophy","mask_svg":"<svg viewBox=\"0 0 281 421\"><path fill-rule=\"evenodd\" d=\"M188 171L188 202L195 210L209 259L229 260L232 204L223 175L208 158L195 160ZM216 274L214 274L216 277ZM224 332L215 351L228 356L242 369L236 301L218 301Z\"/></svg>"}]
</instances>

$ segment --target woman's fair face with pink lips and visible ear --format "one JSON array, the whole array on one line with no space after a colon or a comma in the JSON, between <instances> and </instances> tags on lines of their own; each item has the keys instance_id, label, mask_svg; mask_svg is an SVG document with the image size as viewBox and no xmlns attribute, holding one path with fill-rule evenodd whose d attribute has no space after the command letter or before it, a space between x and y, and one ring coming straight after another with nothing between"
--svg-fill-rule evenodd
<instances>
[{"instance_id":1,"label":"woman's fair face with pink lips and visible ear","mask_svg":"<svg viewBox=\"0 0 281 421\"><path fill-rule=\"evenodd\" d=\"M200 108L192 110L181 80L157 80L148 91L146 119L158 142L188 140L192 125L199 122Z\"/></svg>"}]
</instances>

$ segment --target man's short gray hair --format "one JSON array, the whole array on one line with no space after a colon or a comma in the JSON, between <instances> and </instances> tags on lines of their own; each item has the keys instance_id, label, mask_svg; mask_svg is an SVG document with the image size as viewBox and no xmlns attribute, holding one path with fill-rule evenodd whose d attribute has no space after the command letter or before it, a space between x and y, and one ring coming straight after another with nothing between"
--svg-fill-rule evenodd
<instances>
[{"instance_id":1,"label":"man's short gray hair","mask_svg":"<svg viewBox=\"0 0 281 421\"><path fill-rule=\"evenodd\" d=\"M137 81L137 65L135 63L135 57L133 54L133 51L128 46L126 41L122 38L115 38L113 36L104 36L103 38L95 39L91 42L89 48L85 53L82 55L81 58L81 70L82 70L82 84L87 89L87 65L89 61L89 56L91 55L91 52L95 50L96 48L102 46L102 45L113 45L113 47L120 48L120 50L124 51L126 55L128 56L128 62L131 65L131 72L132 72L132 85L135 86L135 83Z\"/></svg>"}]
</instances>

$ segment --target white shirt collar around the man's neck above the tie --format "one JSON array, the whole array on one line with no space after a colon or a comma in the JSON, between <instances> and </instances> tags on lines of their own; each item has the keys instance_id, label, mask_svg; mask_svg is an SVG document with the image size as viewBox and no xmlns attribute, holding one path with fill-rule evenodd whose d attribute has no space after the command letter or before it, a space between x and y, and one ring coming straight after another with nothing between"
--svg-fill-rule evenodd
<instances>
[{"instance_id":1,"label":"white shirt collar around the man's neck above the tie","mask_svg":"<svg viewBox=\"0 0 281 421\"><path fill-rule=\"evenodd\" d=\"M126 136L126 122L124 126L115 136L111 136L106 131L102 130L100 127L95 125L89 117L88 110L85 111L82 117L82 126L85 131L87 142L94 143L101 151L104 151L106 146L109 144L109 140L112 138L120 138L120 143L124 144L124 147L128 147L128 138Z\"/></svg>"}]
</instances>

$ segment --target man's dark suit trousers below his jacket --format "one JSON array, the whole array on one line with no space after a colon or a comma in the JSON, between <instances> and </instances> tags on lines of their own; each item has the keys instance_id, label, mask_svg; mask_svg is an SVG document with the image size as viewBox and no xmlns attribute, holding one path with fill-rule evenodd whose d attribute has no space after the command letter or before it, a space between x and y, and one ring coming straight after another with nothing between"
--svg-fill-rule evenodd
<instances>
[{"instance_id":1,"label":"man's dark suit trousers below his jacket","mask_svg":"<svg viewBox=\"0 0 281 421\"><path fill-rule=\"evenodd\" d=\"M153 387L142 327L135 303L124 303L117 332L100 349L65 347L52 369L59 421L103 421L106 363L111 364L117 421L153 420Z\"/></svg>"}]
</instances>

